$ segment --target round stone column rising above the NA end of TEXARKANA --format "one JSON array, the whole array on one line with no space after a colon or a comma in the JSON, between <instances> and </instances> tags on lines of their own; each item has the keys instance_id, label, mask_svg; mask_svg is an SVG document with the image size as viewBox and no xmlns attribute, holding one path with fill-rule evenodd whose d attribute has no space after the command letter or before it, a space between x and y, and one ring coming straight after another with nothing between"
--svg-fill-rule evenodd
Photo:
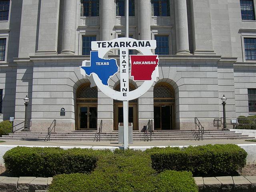
<instances>
[{"instance_id":1,"label":"round stone column rising above the NA end of TEXARKANA","mask_svg":"<svg viewBox=\"0 0 256 192\"><path fill-rule=\"evenodd\" d=\"M139 39L140 40L150 40L151 37L151 2L150 0L140 0L140 10L139 10Z\"/></svg>"}]
</instances>

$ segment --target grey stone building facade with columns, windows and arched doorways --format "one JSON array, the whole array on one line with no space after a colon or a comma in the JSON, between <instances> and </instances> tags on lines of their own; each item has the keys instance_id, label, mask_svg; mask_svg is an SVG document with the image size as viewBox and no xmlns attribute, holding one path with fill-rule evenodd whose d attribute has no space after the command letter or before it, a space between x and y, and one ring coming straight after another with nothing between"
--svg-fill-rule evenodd
<instances>
[{"instance_id":1,"label":"grey stone building facade with columns, windows and arched doorways","mask_svg":"<svg viewBox=\"0 0 256 192\"><path fill-rule=\"evenodd\" d=\"M150 119L155 130L194 129L195 117L213 128L223 94L228 117L256 114L256 0L129 4L130 37L155 39L160 58L158 80L130 102L134 130ZM118 129L122 103L91 88L80 66L92 40L124 36L124 0L0 0L0 20L0 121L24 121L28 95L32 131L54 119L57 131ZM110 82L120 89L118 75ZM140 84L130 78L131 90Z\"/></svg>"}]
</instances>

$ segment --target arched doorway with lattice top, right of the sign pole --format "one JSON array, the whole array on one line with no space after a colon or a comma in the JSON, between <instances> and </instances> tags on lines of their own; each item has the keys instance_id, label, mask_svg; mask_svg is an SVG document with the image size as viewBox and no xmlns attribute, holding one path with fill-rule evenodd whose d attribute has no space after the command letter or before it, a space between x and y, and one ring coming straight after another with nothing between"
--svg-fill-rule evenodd
<instances>
[{"instance_id":1,"label":"arched doorway with lattice top, right of the sign pole","mask_svg":"<svg viewBox=\"0 0 256 192\"><path fill-rule=\"evenodd\" d=\"M167 83L154 86L154 130L175 130L175 95Z\"/></svg>"}]
</instances>

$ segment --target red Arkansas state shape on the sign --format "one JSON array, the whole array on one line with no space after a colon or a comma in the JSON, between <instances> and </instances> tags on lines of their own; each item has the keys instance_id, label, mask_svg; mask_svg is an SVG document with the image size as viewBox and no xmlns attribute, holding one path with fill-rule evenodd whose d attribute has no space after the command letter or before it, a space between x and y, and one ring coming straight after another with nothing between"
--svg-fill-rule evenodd
<instances>
[{"instance_id":1,"label":"red Arkansas state shape on the sign","mask_svg":"<svg viewBox=\"0 0 256 192\"><path fill-rule=\"evenodd\" d=\"M158 66L158 55L130 55L131 76L135 81L152 80L151 75Z\"/></svg>"}]
</instances>

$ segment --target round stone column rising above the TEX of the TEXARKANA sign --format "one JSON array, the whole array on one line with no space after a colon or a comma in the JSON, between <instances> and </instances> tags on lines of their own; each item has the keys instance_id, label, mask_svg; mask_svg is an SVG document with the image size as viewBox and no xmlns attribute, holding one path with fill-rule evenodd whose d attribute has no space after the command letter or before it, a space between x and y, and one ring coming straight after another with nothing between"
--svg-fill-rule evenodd
<instances>
[{"instance_id":1,"label":"round stone column rising above the TEX of the TEXARKANA sign","mask_svg":"<svg viewBox=\"0 0 256 192\"><path fill-rule=\"evenodd\" d=\"M101 40L111 40L111 33L113 31L113 0L102 0L101 1ZM113 36L114 37L114 36Z\"/></svg>"}]
</instances>

